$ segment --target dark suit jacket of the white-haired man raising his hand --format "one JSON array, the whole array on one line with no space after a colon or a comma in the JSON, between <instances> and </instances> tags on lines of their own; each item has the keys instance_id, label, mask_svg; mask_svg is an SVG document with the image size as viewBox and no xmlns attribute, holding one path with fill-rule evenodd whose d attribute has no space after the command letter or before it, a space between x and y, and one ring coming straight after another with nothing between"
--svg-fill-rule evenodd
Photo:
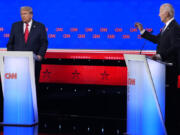
<instances>
[{"instance_id":1,"label":"dark suit jacket of the white-haired man raising his hand","mask_svg":"<svg viewBox=\"0 0 180 135\"><path fill-rule=\"evenodd\" d=\"M156 53L160 54L162 60L165 62L172 62L178 66L180 71L180 26L173 20L165 29L158 35L152 35L145 31L142 35L143 38L156 43Z\"/></svg>"}]
</instances>

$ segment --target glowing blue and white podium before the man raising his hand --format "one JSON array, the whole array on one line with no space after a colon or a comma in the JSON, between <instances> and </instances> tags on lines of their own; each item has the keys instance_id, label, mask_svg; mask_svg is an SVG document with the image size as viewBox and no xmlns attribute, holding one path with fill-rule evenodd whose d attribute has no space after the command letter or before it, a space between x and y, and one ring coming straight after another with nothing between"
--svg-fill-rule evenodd
<instances>
[{"instance_id":1,"label":"glowing blue and white podium before the man raising his hand","mask_svg":"<svg viewBox=\"0 0 180 135\"><path fill-rule=\"evenodd\" d=\"M163 62L145 55L124 54L128 68L127 134L167 135Z\"/></svg>"}]
</instances>

